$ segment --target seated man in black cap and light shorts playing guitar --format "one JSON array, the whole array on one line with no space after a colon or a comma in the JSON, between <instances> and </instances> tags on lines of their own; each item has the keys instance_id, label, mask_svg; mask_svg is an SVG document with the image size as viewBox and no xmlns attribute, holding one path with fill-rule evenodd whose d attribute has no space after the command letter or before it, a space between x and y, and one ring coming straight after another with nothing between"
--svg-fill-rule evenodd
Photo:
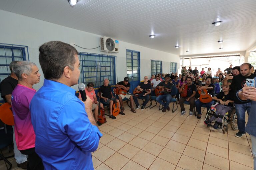
<instances>
[{"instance_id":1,"label":"seated man in black cap and light shorts playing guitar","mask_svg":"<svg viewBox=\"0 0 256 170\"><path fill-rule=\"evenodd\" d=\"M119 89L123 89L125 91L127 91L127 94L123 95L123 94L119 94L118 95L118 99L119 99L119 102L121 103L121 112L124 112L124 105L123 105L123 99L126 97L127 99L130 100L130 104L131 104L131 112L133 113L136 113L136 111L134 110L133 108L133 96L131 94L128 94L129 93L129 90L130 90L130 83L129 83L129 78L128 77L125 77L124 78L124 81L120 81L118 82L116 85L115 85L116 88Z\"/></svg>"}]
</instances>

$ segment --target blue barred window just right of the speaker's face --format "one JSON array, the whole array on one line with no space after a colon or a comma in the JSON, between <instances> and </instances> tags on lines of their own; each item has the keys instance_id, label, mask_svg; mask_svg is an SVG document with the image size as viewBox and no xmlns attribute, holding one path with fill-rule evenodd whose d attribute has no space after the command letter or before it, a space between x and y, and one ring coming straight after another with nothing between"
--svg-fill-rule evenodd
<instances>
[{"instance_id":1,"label":"blue barred window just right of the speaker's face","mask_svg":"<svg viewBox=\"0 0 256 170\"><path fill-rule=\"evenodd\" d=\"M79 83L94 84L94 88L103 85L104 79L109 80L109 85L116 84L115 57L95 53L79 52L80 77Z\"/></svg>"}]
</instances>

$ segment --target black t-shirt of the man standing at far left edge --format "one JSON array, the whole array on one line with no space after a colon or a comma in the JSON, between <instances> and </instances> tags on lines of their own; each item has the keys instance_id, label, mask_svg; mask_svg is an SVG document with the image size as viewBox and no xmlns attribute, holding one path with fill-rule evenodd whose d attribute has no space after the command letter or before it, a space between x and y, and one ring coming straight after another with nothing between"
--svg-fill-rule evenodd
<instances>
[{"instance_id":1,"label":"black t-shirt of the man standing at far left edge","mask_svg":"<svg viewBox=\"0 0 256 170\"><path fill-rule=\"evenodd\" d=\"M16 80L15 78L12 78L11 76L3 79L0 85L0 91L1 91L1 97L4 99L5 102L7 101L4 96L12 94L12 91L17 86L17 84L18 84L18 80Z\"/></svg>"}]
</instances>

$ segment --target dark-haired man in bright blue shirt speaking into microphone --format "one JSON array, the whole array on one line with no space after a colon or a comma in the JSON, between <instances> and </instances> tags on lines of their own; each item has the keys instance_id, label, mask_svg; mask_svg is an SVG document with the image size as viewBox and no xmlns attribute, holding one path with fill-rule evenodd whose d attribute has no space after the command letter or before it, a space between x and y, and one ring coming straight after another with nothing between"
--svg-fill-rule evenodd
<instances>
[{"instance_id":1,"label":"dark-haired man in bright blue shirt speaking into microphone","mask_svg":"<svg viewBox=\"0 0 256 170\"><path fill-rule=\"evenodd\" d=\"M36 134L35 151L45 169L93 169L91 152L102 136L85 103L70 88L78 83L80 62L77 50L64 42L51 41L39 48L44 85L30 103Z\"/></svg>"}]
</instances>

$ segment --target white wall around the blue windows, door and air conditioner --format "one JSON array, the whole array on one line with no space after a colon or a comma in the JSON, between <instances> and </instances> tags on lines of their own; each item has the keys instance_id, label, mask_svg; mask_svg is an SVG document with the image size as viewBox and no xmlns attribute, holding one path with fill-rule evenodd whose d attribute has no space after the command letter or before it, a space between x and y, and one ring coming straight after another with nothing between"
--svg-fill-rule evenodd
<instances>
[{"instance_id":1,"label":"white wall around the blue windows, door and air conditioner","mask_svg":"<svg viewBox=\"0 0 256 170\"><path fill-rule=\"evenodd\" d=\"M41 67L38 60L38 48L41 44L48 41L58 40L69 44L75 43L84 48L95 48L99 46L99 38L103 36L2 10L0 10L0 21L0 42L27 45L30 61L36 63L39 69L41 69ZM75 47L79 52L101 53L99 48L86 50L77 46ZM143 80L144 76L150 76L151 74L151 59L164 61L162 69L163 73L170 72L170 61L177 62L177 65L179 66L180 58L178 55L119 41L119 53L112 54L117 56L117 82L122 81L123 78L126 77L126 49L140 52L141 80ZM38 90L42 85L43 74L41 82L34 85L34 88ZM74 88L76 89L76 86Z\"/></svg>"}]
</instances>

